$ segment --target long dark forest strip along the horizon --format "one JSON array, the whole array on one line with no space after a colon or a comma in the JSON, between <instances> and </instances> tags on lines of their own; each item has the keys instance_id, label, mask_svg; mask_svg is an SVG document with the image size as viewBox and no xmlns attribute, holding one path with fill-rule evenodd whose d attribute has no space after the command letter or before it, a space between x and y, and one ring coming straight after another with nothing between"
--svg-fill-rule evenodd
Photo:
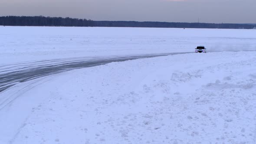
<instances>
[{"instance_id":1,"label":"long dark forest strip along the horizon","mask_svg":"<svg viewBox=\"0 0 256 144\"><path fill-rule=\"evenodd\" d=\"M101 26L101 27L161 27L161 28L211 28L256 29L256 24L235 23L168 23L137 21L93 21L86 19L45 16L0 16L1 26Z\"/></svg>"}]
</instances>

